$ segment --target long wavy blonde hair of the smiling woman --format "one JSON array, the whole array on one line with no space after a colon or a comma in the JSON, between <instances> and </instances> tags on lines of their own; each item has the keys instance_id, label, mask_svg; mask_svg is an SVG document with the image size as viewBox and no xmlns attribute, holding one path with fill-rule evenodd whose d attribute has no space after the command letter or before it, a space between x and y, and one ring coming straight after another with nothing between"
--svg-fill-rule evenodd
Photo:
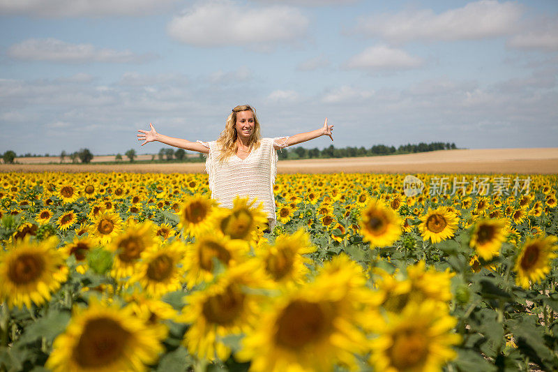
<instances>
[{"instance_id":1,"label":"long wavy blonde hair of the smiling woman","mask_svg":"<svg viewBox=\"0 0 558 372\"><path fill-rule=\"evenodd\" d=\"M242 111L250 110L254 115L254 131L250 134L248 138L248 146L250 146L250 151L253 151L259 147L259 142L262 139L259 131L259 121L256 116L256 109L250 105L239 105L232 109L231 114L227 117L227 123L225 124L225 130L221 132L217 143L221 147L220 156L218 157L220 162L225 161L230 156L236 154L239 149L239 145L236 143L239 135L236 133L236 114Z\"/></svg>"}]
</instances>

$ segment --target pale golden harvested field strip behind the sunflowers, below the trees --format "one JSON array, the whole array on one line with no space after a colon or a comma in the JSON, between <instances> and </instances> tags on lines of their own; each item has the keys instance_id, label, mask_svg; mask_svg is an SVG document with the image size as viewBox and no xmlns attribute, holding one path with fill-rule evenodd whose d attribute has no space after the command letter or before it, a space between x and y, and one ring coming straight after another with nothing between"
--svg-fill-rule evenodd
<instances>
[{"instance_id":1,"label":"pale golden harvested field strip behind the sunflowers, below the trees","mask_svg":"<svg viewBox=\"0 0 558 372\"><path fill-rule=\"evenodd\" d=\"M151 156L149 156L151 158ZM0 164L0 172L204 172L204 163ZM555 174L558 148L458 149L362 158L280 161L280 173L519 173Z\"/></svg>"}]
</instances>

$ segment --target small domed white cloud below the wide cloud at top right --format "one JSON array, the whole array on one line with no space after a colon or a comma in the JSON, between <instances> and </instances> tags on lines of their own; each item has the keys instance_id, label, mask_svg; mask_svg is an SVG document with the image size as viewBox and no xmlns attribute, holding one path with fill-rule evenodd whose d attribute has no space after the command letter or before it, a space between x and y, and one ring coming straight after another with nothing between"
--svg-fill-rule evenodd
<instances>
[{"instance_id":1,"label":"small domed white cloud below the wide cloud at top right","mask_svg":"<svg viewBox=\"0 0 558 372\"><path fill-rule=\"evenodd\" d=\"M405 50L375 45L349 59L345 67L363 70L404 70L417 68L422 64L422 59L413 57Z\"/></svg>"}]
</instances>

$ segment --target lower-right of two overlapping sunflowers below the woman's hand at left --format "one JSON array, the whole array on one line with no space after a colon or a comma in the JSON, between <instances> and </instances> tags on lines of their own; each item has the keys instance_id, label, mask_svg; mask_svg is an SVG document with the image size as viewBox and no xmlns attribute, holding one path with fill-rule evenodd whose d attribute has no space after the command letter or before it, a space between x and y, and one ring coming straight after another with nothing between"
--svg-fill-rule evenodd
<instances>
[{"instance_id":1,"label":"lower-right of two overlapping sunflowers below the woman's hand at left","mask_svg":"<svg viewBox=\"0 0 558 372\"><path fill-rule=\"evenodd\" d=\"M181 289L185 252L186 248L180 240L162 247L147 248L142 252L142 260L130 282L140 283L144 291L153 297L162 297L167 292Z\"/></svg>"}]
</instances>

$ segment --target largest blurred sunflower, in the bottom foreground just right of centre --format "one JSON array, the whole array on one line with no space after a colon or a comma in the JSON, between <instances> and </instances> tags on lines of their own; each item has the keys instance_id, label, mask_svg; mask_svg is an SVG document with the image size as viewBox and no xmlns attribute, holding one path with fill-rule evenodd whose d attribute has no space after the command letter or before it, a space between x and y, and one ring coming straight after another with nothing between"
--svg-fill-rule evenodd
<instances>
[{"instance_id":1,"label":"largest blurred sunflower, in the bottom foreground just right of centre","mask_svg":"<svg viewBox=\"0 0 558 372\"><path fill-rule=\"evenodd\" d=\"M341 258L340 260L343 260ZM368 315L362 270L348 262L326 265L315 281L285 290L242 340L236 357L259 371L356 369L354 353L367 343L359 329Z\"/></svg>"}]
</instances>

